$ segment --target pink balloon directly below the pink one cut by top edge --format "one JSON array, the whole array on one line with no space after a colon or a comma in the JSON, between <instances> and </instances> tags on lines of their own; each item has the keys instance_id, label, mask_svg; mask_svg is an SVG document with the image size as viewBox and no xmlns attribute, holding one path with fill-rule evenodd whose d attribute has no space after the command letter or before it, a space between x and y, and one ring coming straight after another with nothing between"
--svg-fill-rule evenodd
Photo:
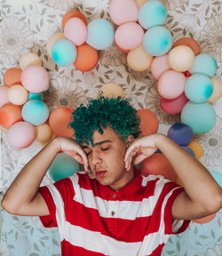
<instances>
[{"instance_id":1,"label":"pink balloon directly below the pink one cut by top edge","mask_svg":"<svg viewBox=\"0 0 222 256\"><path fill-rule=\"evenodd\" d=\"M136 22L126 22L115 31L115 43L124 50L137 48L143 42L144 30Z\"/></svg>"}]
</instances>

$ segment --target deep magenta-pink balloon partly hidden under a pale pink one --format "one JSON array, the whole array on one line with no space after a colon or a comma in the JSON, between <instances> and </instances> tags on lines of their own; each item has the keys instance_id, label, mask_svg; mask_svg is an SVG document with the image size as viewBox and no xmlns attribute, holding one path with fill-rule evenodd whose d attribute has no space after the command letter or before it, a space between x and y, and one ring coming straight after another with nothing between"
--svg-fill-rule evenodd
<instances>
[{"instance_id":1,"label":"deep magenta-pink balloon partly hidden under a pale pink one","mask_svg":"<svg viewBox=\"0 0 222 256\"><path fill-rule=\"evenodd\" d=\"M178 98L172 100L161 98L161 108L167 114L177 115L181 113L187 101L188 99L186 98L186 95L183 92L181 95L178 96Z\"/></svg>"}]
</instances>

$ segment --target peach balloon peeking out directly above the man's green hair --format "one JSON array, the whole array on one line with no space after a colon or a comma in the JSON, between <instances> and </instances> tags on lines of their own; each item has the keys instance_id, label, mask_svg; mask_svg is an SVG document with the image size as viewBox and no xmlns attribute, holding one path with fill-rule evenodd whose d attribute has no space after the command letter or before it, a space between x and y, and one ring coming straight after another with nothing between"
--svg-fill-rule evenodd
<instances>
[{"instance_id":1,"label":"peach balloon peeking out directly above the man's green hair","mask_svg":"<svg viewBox=\"0 0 222 256\"><path fill-rule=\"evenodd\" d=\"M122 99L124 99L124 92L119 84L111 83L102 85L98 92L98 98L100 95L105 98L117 98L120 96Z\"/></svg>"}]
</instances>

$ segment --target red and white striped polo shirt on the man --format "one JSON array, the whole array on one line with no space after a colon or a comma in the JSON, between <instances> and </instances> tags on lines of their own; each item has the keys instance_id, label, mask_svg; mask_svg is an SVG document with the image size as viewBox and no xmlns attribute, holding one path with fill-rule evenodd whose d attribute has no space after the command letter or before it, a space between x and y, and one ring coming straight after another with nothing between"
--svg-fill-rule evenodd
<instances>
[{"instance_id":1,"label":"red and white striped polo shirt on the man","mask_svg":"<svg viewBox=\"0 0 222 256\"><path fill-rule=\"evenodd\" d=\"M161 255L170 234L188 227L188 220L171 218L171 206L183 190L137 169L118 191L77 172L39 188L50 212L40 220L45 228L59 228L61 255Z\"/></svg>"}]
</instances>

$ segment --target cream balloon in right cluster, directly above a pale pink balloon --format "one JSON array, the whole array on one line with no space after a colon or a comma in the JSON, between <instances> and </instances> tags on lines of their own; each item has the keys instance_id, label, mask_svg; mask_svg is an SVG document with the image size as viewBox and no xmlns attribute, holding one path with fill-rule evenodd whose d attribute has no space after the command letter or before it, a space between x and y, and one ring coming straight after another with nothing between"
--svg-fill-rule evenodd
<instances>
[{"instance_id":1,"label":"cream balloon in right cluster, directly above a pale pink balloon","mask_svg":"<svg viewBox=\"0 0 222 256\"><path fill-rule=\"evenodd\" d=\"M172 69L185 72L194 63L194 52L186 45L178 45L168 53L168 62Z\"/></svg>"}]
</instances>

